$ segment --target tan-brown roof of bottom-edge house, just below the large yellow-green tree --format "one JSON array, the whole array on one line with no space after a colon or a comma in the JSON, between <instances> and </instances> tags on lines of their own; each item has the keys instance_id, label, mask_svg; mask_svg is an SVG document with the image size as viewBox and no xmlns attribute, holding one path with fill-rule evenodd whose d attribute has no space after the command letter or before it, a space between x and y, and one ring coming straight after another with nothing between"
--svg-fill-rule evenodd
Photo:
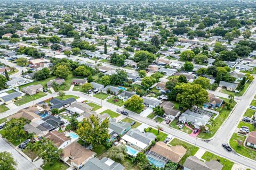
<instances>
[{"instance_id":1,"label":"tan-brown roof of bottom-edge house, just below the large yellow-green tree","mask_svg":"<svg viewBox=\"0 0 256 170\"><path fill-rule=\"evenodd\" d=\"M76 165L80 165L88 158L92 157L95 153L89 149L85 149L82 145L77 142L73 142L63 149L61 157L63 159L71 157L71 162Z\"/></svg>"}]
</instances>

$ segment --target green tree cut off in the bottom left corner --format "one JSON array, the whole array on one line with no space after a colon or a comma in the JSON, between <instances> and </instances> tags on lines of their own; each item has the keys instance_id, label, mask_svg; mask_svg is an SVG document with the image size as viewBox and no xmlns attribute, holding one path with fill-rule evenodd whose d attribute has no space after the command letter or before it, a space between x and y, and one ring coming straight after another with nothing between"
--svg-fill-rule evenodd
<instances>
[{"instance_id":1,"label":"green tree cut off in the bottom left corner","mask_svg":"<svg viewBox=\"0 0 256 170\"><path fill-rule=\"evenodd\" d=\"M15 166L17 166L17 163L10 152L0 152L0 169L15 170Z\"/></svg>"}]
</instances>

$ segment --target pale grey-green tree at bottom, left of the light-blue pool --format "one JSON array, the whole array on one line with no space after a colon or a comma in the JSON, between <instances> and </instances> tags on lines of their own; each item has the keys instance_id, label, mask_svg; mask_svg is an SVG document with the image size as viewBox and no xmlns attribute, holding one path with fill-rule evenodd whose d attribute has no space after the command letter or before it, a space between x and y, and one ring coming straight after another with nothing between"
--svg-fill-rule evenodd
<instances>
[{"instance_id":1,"label":"pale grey-green tree at bottom, left of the light-blue pool","mask_svg":"<svg viewBox=\"0 0 256 170\"><path fill-rule=\"evenodd\" d=\"M108 150L108 157L110 159L119 160L119 162L123 162L127 155L126 151L127 148L125 145L114 146Z\"/></svg>"}]
</instances>

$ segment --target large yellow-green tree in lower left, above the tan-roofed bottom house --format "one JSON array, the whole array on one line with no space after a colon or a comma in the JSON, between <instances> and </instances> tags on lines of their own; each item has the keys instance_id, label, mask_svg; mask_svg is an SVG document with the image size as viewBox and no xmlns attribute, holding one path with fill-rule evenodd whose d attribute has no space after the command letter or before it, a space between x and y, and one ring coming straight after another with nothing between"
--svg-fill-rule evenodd
<instances>
[{"instance_id":1,"label":"large yellow-green tree in lower left, above the tan-roofed bottom house","mask_svg":"<svg viewBox=\"0 0 256 170\"><path fill-rule=\"evenodd\" d=\"M93 148L99 144L106 145L107 140L110 139L108 126L109 120L107 118L99 123L99 117L91 115L78 123L77 134L79 139L84 141L86 145L92 145Z\"/></svg>"}]
</instances>

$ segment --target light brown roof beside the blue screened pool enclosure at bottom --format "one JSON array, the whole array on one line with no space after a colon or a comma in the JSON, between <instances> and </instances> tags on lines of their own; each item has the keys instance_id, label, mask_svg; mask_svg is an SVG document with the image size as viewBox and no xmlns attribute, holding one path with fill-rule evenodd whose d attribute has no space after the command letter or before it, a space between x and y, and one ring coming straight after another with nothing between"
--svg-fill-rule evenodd
<instances>
[{"instance_id":1,"label":"light brown roof beside the blue screened pool enclosure at bottom","mask_svg":"<svg viewBox=\"0 0 256 170\"><path fill-rule=\"evenodd\" d=\"M164 142L156 142L156 145L150 149L159 155L171 160L174 163L178 163L180 159L186 154L187 149L183 146L167 146Z\"/></svg>"}]
</instances>

